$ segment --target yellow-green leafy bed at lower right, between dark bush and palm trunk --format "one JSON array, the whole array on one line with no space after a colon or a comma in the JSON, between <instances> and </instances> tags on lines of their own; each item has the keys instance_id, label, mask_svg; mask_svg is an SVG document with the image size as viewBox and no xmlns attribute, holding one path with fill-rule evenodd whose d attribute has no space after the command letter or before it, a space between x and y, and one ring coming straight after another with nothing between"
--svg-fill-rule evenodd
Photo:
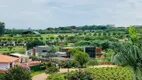
<instances>
[{"instance_id":1,"label":"yellow-green leafy bed at lower right, between dark bush and palm trunk","mask_svg":"<svg viewBox=\"0 0 142 80\"><path fill-rule=\"evenodd\" d=\"M95 80L133 80L132 72L127 67L88 68Z\"/></svg>"}]
</instances>

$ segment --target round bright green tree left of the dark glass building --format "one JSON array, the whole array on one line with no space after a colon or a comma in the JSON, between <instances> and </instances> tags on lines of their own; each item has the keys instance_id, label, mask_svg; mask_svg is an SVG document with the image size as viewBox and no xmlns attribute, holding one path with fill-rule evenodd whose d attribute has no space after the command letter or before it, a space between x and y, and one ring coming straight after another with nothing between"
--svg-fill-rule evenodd
<instances>
[{"instance_id":1,"label":"round bright green tree left of the dark glass building","mask_svg":"<svg viewBox=\"0 0 142 80\"><path fill-rule=\"evenodd\" d=\"M90 57L87 53L78 51L75 53L74 59L80 64L80 67L83 68L83 66L90 60Z\"/></svg>"}]
</instances>

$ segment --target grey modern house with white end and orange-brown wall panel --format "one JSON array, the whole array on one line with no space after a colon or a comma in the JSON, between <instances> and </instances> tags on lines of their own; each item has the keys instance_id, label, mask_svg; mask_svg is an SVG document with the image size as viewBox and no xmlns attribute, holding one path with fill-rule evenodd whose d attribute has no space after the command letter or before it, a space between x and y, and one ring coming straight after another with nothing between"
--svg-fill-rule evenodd
<instances>
[{"instance_id":1,"label":"grey modern house with white end and orange-brown wall panel","mask_svg":"<svg viewBox=\"0 0 142 80\"><path fill-rule=\"evenodd\" d=\"M26 55L29 55L29 56L42 56L44 54L47 54L48 51L52 50L53 47L51 46L37 46L37 47L34 47L33 49L30 49L28 51L26 51Z\"/></svg>"}]
</instances>

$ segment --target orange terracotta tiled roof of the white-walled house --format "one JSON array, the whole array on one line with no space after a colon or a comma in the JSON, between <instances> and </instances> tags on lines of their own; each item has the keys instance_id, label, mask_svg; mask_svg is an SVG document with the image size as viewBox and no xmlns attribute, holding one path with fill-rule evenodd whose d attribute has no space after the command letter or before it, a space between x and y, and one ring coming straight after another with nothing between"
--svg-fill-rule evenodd
<instances>
[{"instance_id":1,"label":"orange terracotta tiled roof of the white-walled house","mask_svg":"<svg viewBox=\"0 0 142 80\"><path fill-rule=\"evenodd\" d=\"M11 63L18 60L18 58L0 54L0 63Z\"/></svg>"}]
</instances>

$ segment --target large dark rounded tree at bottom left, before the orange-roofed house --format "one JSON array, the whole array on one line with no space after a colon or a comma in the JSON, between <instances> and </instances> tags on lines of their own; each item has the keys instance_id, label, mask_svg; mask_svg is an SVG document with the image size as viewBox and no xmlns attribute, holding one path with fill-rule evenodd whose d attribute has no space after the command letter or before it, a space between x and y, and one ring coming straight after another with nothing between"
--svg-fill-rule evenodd
<instances>
[{"instance_id":1,"label":"large dark rounded tree at bottom left, before the orange-roofed house","mask_svg":"<svg viewBox=\"0 0 142 80\"><path fill-rule=\"evenodd\" d=\"M4 74L3 80L32 80L27 68L15 66Z\"/></svg>"}]
</instances>

